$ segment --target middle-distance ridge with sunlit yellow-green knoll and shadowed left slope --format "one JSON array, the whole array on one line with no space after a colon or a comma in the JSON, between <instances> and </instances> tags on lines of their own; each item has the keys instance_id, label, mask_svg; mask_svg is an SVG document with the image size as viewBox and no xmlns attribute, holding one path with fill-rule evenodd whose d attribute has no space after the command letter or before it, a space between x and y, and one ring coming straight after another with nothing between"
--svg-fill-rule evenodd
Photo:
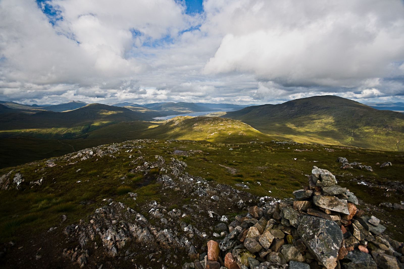
<instances>
[{"instance_id":1,"label":"middle-distance ridge with sunlit yellow-green knoll and shadowed left slope","mask_svg":"<svg viewBox=\"0 0 404 269\"><path fill-rule=\"evenodd\" d=\"M148 121L120 122L84 133L76 139L0 138L0 168L60 156L97 145L147 138L226 143L272 140L245 123L218 117L176 117L164 124Z\"/></svg>"}]
</instances>

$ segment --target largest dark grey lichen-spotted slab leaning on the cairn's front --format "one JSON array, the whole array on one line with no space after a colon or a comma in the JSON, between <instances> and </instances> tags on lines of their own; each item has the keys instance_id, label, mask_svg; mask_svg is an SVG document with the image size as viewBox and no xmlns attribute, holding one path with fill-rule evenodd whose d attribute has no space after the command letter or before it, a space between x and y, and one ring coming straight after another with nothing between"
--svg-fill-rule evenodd
<instances>
[{"instance_id":1,"label":"largest dark grey lichen-spotted slab leaning on the cairn's front","mask_svg":"<svg viewBox=\"0 0 404 269\"><path fill-rule=\"evenodd\" d=\"M335 221L301 216L297 232L324 267L334 269L337 266L338 251L341 248L343 234Z\"/></svg>"}]
</instances>

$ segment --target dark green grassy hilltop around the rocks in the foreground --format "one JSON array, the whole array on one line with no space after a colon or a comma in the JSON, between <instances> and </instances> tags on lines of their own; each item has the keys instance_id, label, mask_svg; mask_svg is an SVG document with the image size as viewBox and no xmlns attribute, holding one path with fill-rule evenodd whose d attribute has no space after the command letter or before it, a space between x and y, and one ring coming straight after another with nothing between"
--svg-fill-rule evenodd
<instances>
[{"instance_id":1,"label":"dark green grassy hilltop around the rocks in the foreground","mask_svg":"<svg viewBox=\"0 0 404 269\"><path fill-rule=\"evenodd\" d=\"M105 198L114 198L116 201L124 202L127 206L136 209L137 205L129 198L128 194L120 193L122 177L129 175L133 165L129 160L140 156L137 150L128 153L126 150L135 146L141 148L145 161L154 161L155 155L163 156L167 161L175 157L185 161L188 165L187 172L193 176L201 176L207 180L215 180L221 184L229 184L235 188L235 184L243 182L250 187L250 192L257 196L274 196L278 198L292 197L292 191L300 189L307 184L306 174L309 174L311 167L316 165L328 169L335 175L351 173L344 177L337 177L341 186L355 192L358 198L371 205L378 205L379 202L399 202L402 200L401 192L391 192L390 197L385 197L385 190L370 188L357 184L354 178L381 185L387 185L387 181L402 181L404 169L403 157L397 156L396 152L383 152L363 149L341 149L328 146L335 150L328 152L324 147L318 145L304 144L276 144L274 142L244 143L239 144L240 148L229 150L234 144L217 144L206 141L151 141L147 142L125 142L126 148L110 156L104 156L80 161L76 164L67 165L72 162L68 159L55 161L56 167L46 167L44 161L32 165L21 165L15 167L14 173L22 173L25 178L23 187L19 190L0 190L0 241L19 242L22 240L23 231L32 233L43 232L51 226L60 222L60 216L67 213L69 222L75 223L85 218L89 213L102 204ZM196 152L191 156L176 156L170 154L175 149ZM312 151L295 151L312 150ZM200 150L200 151L198 151ZM128 158L132 154L132 158ZM339 168L341 165L335 160L339 156L345 156L350 162L358 161L365 165L372 165L374 172L360 169ZM294 160L297 158L297 160ZM317 161L314 163L314 161ZM393 166L379 168L376 162L391 161ZM237 169L236 174L231 174L223 166ZM78 169L81 169L78 171ZM0 175L8 173L11 168L1 169ZM78 172L77 172L78 171ZM12 174L12 176L13 176ZM363 177L362 177L363 176ZM133 177L133 175L130 175ZM42 186L29 186L29 181L44 179ZM81 181L77 183L76 181ZM163 205L187 204L189 200L185 197L173 196L174 200L167 197L159 197L154 194L161 189L158 184L140 187L139 182L132 183L130 178L124 179L125 186L133 189L139 194L137 203L145 203L150 200L158 200ZM268 193L271 190L271 193ZM166 192L166 191L165 191ZM80 204L82 201L91 201L92 204ZM369 205L362 204L360 209ZM386 216L372 212L380 219ZM387 209L387 214L396 218L389 218L388 229L396 233L398 240L403 240L401 231L403 223L400 219L404 217L402 211ZM387 216L388 217L388 216ZM69 223L66 223L66 225ZM398 225L394 228L393 225ZM401 239L400 239L401 238Z\"/></svg>"}]
</instances>

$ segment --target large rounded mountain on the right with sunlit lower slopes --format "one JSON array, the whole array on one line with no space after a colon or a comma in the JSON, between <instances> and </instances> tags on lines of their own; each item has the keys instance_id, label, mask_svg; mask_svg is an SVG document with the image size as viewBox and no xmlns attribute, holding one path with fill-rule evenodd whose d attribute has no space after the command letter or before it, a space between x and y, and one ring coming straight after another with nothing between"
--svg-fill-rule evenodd
<instances>
[{"instance_id":1,"label":"large rounded mountain on the right with sunlit lower slopes","mask_svg":"<svg viewBox=\"0 0 404 269\"><path fill-rule=\"evenodd\" d=\"M313 96L227 112L278 139L404 151L404 115L339 96Z\"/></svg>"}]
</instances>

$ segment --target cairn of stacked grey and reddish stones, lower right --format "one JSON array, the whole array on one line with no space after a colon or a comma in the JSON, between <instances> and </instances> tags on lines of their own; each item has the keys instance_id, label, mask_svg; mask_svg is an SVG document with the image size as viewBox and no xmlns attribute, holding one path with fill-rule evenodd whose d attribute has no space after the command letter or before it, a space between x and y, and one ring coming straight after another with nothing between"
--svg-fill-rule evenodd
<instances>
[{"instance_id":1,"label":"cairn of stacked grey and reddish stones, lower right","mask_svg":"<svg viewBox=\"0 0 404 269\"><path fill-rule=\"evenodd\" d=\"M186 267L404 268L403 243L384 235L379 219L357 210L356 196L338 186L332 173L316 166L311 173L309 186L294 191L294 200L261 198L236 216L223 240L210 240L207 254Z\"/></svg>"}]
</instances>

